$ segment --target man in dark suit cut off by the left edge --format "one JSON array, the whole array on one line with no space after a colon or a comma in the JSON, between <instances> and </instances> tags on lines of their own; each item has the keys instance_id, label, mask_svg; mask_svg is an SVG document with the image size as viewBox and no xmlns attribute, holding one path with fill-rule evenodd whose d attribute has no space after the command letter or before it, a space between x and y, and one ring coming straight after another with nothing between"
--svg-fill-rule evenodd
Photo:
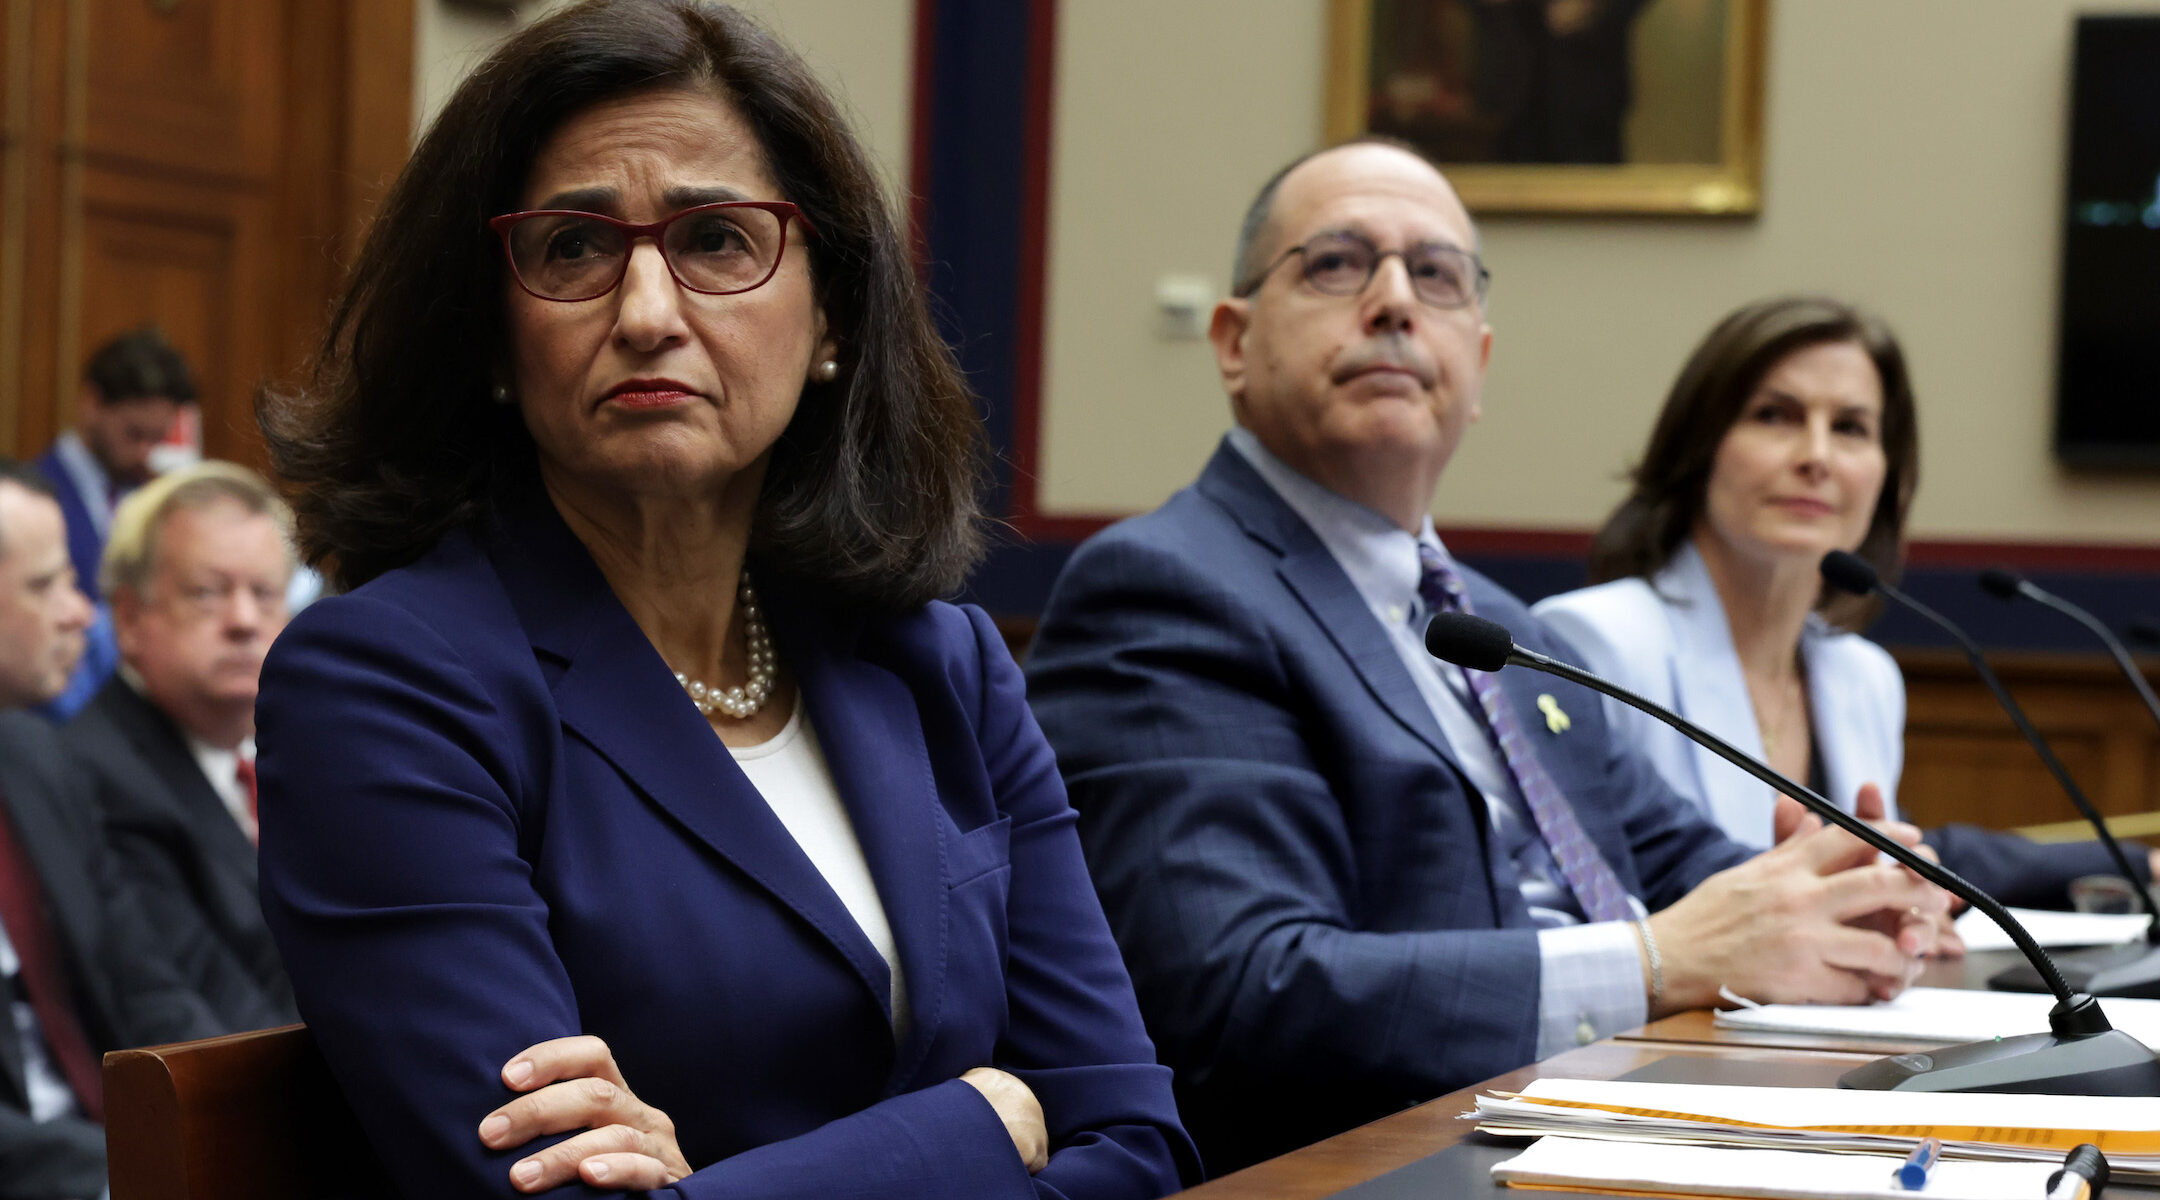
<instances>
[{"instance_id":1,"label":"man in dark suit cut off by the left edge","mask_svg":"<svg viewBox=\"0 0 2160 1200\"><path fill-rule=\"evenodd\" d=\"M102 1055L225 1032L173 969L201 947L160 945L52 727L19 712L82 654L73 576L52 488L0 460L0 1200L99 1196Z\"/></svg>"}]
</instances>

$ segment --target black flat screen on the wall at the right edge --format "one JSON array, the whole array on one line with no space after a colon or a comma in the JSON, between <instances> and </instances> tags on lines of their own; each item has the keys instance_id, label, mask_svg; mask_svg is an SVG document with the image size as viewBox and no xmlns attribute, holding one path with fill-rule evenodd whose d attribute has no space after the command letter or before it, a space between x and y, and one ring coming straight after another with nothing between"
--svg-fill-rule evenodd
<instances>
[{"instance_id":1,"label":"black flat screen on the wall at the right edge","mask_svg":"<svg viewBox=\"0 0 2160 1200\"><path fill-rule=\"evenodd\" d=\"M2160 17L2078 17L2054 451L2160 468Z\"/></svg>"}]
</instances>

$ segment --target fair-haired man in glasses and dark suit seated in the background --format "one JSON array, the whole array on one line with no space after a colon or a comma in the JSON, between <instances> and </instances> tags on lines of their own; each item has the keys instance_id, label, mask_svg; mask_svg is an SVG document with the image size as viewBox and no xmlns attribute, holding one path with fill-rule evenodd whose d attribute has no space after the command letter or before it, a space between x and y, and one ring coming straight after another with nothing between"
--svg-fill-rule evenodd
<instances>
[{"instance_id":1,"label":"fair-haired man in glasses and dark suit seated in the background","mask_svg":"<svg viewBox=\"0 0 2160 1200\"><path fill-rule=\"evenodd\" d=\"M255 900L255 684L285 628L292 514L259 475L201 462L121 501L102 581L121 667L60 734L188 980L233 1029L296 1021Z\"/></svg>"}]
</instances>

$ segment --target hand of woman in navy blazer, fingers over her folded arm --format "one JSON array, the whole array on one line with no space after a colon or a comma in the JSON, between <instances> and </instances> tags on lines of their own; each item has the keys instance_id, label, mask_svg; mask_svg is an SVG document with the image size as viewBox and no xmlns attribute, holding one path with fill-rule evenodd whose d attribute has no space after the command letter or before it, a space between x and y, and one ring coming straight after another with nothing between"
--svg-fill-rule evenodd
<instances>
[{"instance_id":1,"label":"hand of woman in navy blazer, fingers over her folded arm","mask_svg":"<svg viewBox=\"0 0 2160 1200\"><path fill-rule=\"evenodd\" d=\"M1011 1081L1026 1094L1017 1079ZM555 1038L527 1047L503 1064L503 1083L525 1094L480 1122L480 1142L490 1150L510 1150L549 1133L585 1131L518 1159L510 1168L510 1183L518 1191L546 1191L575 1178L639 1191L689 1174L674 1140L674 1122L631 1092L616 1055L600 1038ZM1035 1103L1032 1094L1028 1103ZM1035 1122L1041 1129L1041 1109Z\"/></svg>"}]
</instances>

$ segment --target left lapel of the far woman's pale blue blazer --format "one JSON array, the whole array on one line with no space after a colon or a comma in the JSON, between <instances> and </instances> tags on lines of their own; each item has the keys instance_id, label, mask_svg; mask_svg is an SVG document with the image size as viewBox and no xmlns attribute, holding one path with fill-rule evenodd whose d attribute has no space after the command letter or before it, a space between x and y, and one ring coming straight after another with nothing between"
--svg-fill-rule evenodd
<instances>
[{"instance_id":1,"label":"left lapel of the far woman's pale blue blazer","mask_svg":"<svg viewBox=\"0 0 2160 1200\"><path fill-rule=\"evenodd\" d=\"M1665 615L1678 650L1672 656L1674 708L1741 753L1763 758L1763 729L1756 727L1754 699L1732 650L1732 626L1702 555L1683 544L1650 587L1668 598ZM1711 818L1737 842L1773 844L1769 790L1700 745L1689 742L1689 753L1700 794L1711 801Z\"/></svg>"}]
</instances>

